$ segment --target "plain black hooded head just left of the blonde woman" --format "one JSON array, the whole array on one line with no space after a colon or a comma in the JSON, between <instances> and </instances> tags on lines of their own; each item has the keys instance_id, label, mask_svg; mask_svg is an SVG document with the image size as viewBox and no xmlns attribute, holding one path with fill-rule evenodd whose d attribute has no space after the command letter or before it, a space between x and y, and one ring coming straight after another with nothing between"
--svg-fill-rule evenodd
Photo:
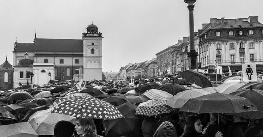
<instances>
[{"instance_id":1,"label":"plain black hooded head just left of the blonde woman","mask_svg":"<svg viewBox=\"0 0 263 137\"><path fill-rule=\"evenodd\" d=\"M59 121L54 128L54 137L71 137L75 125L69 121Z\"/></svg>"}]
</instances>

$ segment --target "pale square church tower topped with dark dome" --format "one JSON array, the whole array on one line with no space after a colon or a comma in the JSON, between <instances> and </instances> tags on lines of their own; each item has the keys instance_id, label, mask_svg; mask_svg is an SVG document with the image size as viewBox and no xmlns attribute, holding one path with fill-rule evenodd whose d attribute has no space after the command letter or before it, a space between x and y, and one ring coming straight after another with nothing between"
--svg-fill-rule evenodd
<instances>
[{"instance_id":1,"label":"pale square church tower topped with dark dome","mask_svg":"<svg viewBox=\"0 0 263 137\"><path fill-rule=\"evenodd\" d=\"M85 80L102 80L102 38L93 22L87 27L87 33L82 33Z\"/></svg>"}]
</instances>

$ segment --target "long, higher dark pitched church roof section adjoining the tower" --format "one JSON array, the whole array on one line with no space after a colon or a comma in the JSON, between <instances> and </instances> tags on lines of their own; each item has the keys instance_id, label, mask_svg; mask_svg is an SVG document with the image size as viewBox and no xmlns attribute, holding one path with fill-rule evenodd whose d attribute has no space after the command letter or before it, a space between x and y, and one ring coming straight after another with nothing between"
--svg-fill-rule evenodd
<instances>
[{"instance_id":1,"label":"long, higher dark pitched church roof section adjoining the tower","mask_svg":"<svg viewBox=\"0 0 263 137\"><path fill-rule=\"evenodd\" d=\"M83 52L83 41L72 39L36 39L34 51Z\"/></svg>"}]
</instances>

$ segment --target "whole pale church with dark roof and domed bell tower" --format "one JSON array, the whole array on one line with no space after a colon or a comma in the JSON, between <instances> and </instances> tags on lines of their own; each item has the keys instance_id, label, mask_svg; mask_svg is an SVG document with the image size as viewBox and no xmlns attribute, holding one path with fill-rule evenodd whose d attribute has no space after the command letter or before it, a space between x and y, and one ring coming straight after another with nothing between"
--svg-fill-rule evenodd
<instances>
[{"instance_id":1,"label":"whole pale church with dark roof and domed bell tower","mask_svg":"<svg viewBox=\"0 0 263 137\"><path fill-rule=\"evenodd\" d=\"M102 33L93 23L82 39L42 39L34 43L14 43L13 81L18 84L47 84L49 79L101 80ZM50 73L51 75L50 75ZM50 76L49 76L50 75Z\"/></svg>"}]
</instances>

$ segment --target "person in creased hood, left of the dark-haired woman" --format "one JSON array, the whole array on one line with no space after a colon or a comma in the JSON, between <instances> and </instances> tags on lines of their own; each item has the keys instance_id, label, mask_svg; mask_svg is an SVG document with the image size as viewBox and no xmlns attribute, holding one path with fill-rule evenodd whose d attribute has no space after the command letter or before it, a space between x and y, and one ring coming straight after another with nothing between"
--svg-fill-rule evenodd
<instances>
[{"instance_id":1,"label":"person in creased hood, left of the dark-haired woman","mask_svg":"<svg viewBox=\"0 0 263 137\"><path fill-rule=\"evenodd\" d=\"M177 137L174 125L168 121L162 122L153 137Z\"/></svg>"}]
</instances>

